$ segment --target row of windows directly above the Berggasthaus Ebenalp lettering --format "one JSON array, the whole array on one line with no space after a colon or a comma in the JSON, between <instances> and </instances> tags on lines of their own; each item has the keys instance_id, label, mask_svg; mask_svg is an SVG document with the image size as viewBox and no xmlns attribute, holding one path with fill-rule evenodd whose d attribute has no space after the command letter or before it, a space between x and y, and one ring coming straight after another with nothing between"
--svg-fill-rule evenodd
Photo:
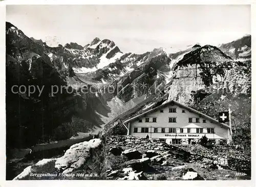
<instances>
[{"instance_id":1,"label":"row of windows directly above the Berggasthaus Ebenalp lettering","mask_svg":"<svg viewBox=\"0 0 256 187\"><path fill-rule=\"evenodd\" d=\"M184 128L180 128L180 133L183 133ZM196 128L197 130L197 133L203 133L203 128ZM134 132L138 132L138 128L135 127L134 128ZM148 132L148 127L142 127L141 128L141 132L145 132L147 133ZM158 133L158 128L154 128L154 133ZM168 133L176 133L176 128L168 128ZM187 128L187 133L190 133L191 132L191 129L190 128ZM161 133L167 133L165 132L165 128L161 128ZM207 128L207 133L214 133L214 128Z\"/></svg>"}]
</instances>

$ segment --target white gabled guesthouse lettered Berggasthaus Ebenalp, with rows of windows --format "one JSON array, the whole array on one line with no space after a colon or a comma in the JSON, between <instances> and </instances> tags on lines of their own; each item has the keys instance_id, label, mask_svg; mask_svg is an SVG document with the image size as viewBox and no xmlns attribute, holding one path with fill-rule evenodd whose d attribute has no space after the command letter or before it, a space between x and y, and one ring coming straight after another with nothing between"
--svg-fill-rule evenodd
<instances>
[{"instance_id":1,"label":"white gabled guesthouse lettered Berggasthaus Ebenalp, with rows of windows","mask_svg":"<svg viewBox=\"0 0 256 187\"><path fill-rule=\"evenodd\" d=\"M127 135L160 138L167 144L191 144L206 135L208 141L231 141L230 127L175 101L162 104L123 123Z\"/></svg>"}]
</instances>

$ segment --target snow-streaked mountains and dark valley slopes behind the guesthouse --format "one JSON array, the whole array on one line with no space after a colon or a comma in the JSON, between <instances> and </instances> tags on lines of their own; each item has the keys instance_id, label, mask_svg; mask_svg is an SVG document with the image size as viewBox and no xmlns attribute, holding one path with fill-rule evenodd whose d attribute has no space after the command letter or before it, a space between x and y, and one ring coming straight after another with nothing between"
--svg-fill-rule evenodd
<instances>
[{"instance_id":1,"label":"snow-streaked mountains and dark valley slopes behind the guesthouse","mask_svg":"<svg viewBox=\"0 0 256 187\"><path fill-rule=\"evenodd\" d=\"M7 152L83 133L121 135L123 121L175 100L215 119L231 108L233 141L250 154L251 36L191 46L133 54L95 38L51 47L6 22ZM13 85L44 89L14 93Z\"/></svg>"}]
</instances>

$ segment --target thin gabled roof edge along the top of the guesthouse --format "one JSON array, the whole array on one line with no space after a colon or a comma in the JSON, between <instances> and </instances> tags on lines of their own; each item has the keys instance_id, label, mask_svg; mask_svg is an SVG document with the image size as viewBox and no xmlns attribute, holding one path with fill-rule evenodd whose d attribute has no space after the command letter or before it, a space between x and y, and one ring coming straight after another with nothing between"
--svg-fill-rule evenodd
<instances>
[{"instance_id":1,"label":"thin gabled roof edge along the top of the guesthouse","mask_svg":"<svg viewBox=\"0 0 256 187\"><path fill-rule=\"evenodd\" d=\"M158 107L156 107L156 108L153 108L153 109L151 109L151 110L148 110L148 111L146 111L146 112L144 112L144 113L141 113L141 114L139 114L139 115L136 115L136 116L134 116L133 118L124 121L123 123L125 124L125 123L128 123L128 122L134 121L134 120L140 118L141 116L143 116L143 115L145 115L145 114L147 114L147 113L154 112L154 111L158 110L159 108L162 108L162 107L164 107L164 106L166 106L166 105L169 105L169 104L176 104L176 105L180 106L181 108L186 108L186 109L189 110L190 112L194 112L194 113L197 113L198 115L203 116L204 118L208 119L210 122L214 122L214 123L216 123L216 124L218 124L218 125L220 125L220 126L223 126L223 127L225 127L225 128L228 128L228 129L230 128L228 125L226 125L226 124L224 124L224 123L220 123L218 120L215 120L214 118L211 118L210 116L208 116L208 115L206 115L206 114L204 114L204 113L202 113L202 112L199 112L199 111L197 111L197 110L195 110L195 109L193 109L193 108L190 108L190 107L188 107L188 106L186 106L186 105L180 104L180 103L178 103L178 102L176 102L176 101L174 101L174 100L169 101L169 102L167 102L167 103L164 103L164 104L162 104L162 105L160 105L160 106L158 106Z\"/></svg>"}]
</instances>

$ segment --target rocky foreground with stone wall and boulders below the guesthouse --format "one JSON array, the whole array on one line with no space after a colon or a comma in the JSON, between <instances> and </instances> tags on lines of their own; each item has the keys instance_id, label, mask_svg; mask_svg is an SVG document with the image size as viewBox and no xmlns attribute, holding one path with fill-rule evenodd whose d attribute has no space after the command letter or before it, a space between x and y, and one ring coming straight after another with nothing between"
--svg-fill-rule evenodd
<instances>
[{"instance_id":1,"label":"rocky foreground with stone wall and boulders below the guesthouse","mask_svg":"<svg viewBox=\"0 0 256 187\"><path fill-rule=\"evenodd\" d=\"M246 180L250 159L241 147L170 146L158 139L108 136L42 159L14 180Z\"/></svg>"}]
</instances>

